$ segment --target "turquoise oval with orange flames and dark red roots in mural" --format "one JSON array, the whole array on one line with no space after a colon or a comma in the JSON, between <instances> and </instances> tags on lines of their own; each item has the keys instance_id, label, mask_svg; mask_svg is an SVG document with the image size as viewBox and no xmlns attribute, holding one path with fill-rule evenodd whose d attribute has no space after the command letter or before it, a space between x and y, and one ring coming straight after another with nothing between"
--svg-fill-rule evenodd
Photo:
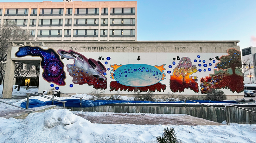
<instances>
[{"instance_id":1,"label":"turquoise oval with orange flames and dark red roots in mural","mask_svg":"<svg viewBox=\"0 0 256 143\"><path fill-rule=\"evenodd\" d=\"M161 89L164 91L166 85L160 83L164 80L165 74L163 73L164 65L161 66L150 66L146 64L128 64L128 65L111 65L112 72L111 78L115 81L110 83L110 91L117 91L120 89L128 91L140 90L146 91L158 91Z\"/></svg>"}]
</instances>

